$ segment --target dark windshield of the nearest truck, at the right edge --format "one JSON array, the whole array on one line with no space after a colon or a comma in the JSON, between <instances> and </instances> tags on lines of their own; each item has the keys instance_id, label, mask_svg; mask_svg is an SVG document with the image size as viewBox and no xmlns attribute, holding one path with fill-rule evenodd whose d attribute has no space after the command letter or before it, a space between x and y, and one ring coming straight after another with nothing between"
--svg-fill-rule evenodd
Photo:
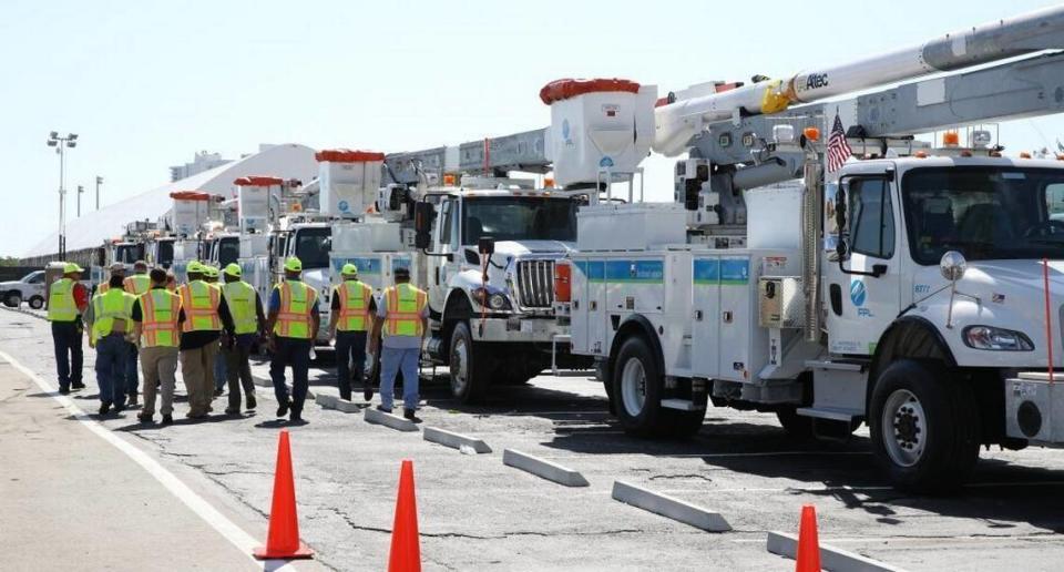
<instances>
[{"instance_id":1,"label":"dark windshield of the nearest truck, at the right edge","mask_svg":"<svg viewBox=\"0 0 1064 572\"><path fill-rule=\"evenodd\" d=\"M902 181L912 258L1064 258L1064 170L929 167Z\"/></svg>"}]
</instances>

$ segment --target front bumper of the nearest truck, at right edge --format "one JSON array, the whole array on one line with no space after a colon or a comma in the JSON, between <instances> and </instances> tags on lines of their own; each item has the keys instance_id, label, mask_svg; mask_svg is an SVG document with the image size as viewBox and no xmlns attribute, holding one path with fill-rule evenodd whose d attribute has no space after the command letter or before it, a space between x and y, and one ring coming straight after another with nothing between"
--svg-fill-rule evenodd
<instances>
[{"instance_id":1,"label":"front bumper of the nearest truck, at right edge","mask_svg":"<svg viewBox=\"0 0 1064 572\"><path fill-rule=\"evenodd\" d=\"M1006 379L1005 435L1032 445L1064 443L1064 378L1031 372Z\"/></svg>"}]
</instances>

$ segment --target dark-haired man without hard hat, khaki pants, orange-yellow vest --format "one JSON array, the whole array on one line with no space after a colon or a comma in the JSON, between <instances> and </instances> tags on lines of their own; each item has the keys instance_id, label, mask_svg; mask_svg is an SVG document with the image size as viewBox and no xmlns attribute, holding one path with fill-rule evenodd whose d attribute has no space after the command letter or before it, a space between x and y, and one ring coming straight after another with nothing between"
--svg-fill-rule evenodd
<instances>
[{"instance_id":1,"label":"dark-haired man without hard hat, khaki pants, orange-yellow vest","mask_svg":"<svg viewBox=\"0 0 1064 572\"><path fill-rule=\"evenodd\" d=\"M144 369L144 408L136 418L142 423L154 422L155 392L161 390L163 402L158 412L163 413L163 425L170 425L174 422L181 296L166 289L166 270L153 269L151 280L152 288L133 305L133 331L141 340L141 367Z\"/></svg>"}]
</instances>

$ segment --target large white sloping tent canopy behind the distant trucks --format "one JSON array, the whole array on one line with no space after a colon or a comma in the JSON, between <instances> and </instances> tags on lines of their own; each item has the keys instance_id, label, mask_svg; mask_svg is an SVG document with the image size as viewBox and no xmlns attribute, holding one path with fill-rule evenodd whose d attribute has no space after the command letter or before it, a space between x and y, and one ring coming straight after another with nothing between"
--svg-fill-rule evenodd
<instances>
[{"instance_id":1,"label":"large white sloping tent canopy behind the distant trucks","mask_svg":"<svg viewBox=\"0 0 1064 572\"><path fill-rule=\"evenodd\" d=\"M314 150L295 143L265 146L239 161L131 196L66 223L66 251L100 246L108 238L121 236L133 221L156 222L173 206L170 194L175 191L203 191L229 196L233 181L242 176L266 175L309 182L318 175ZM48 256L57 252L58 233L51 233L25 253L25 257Z\"/></svg>"}]
</instances>

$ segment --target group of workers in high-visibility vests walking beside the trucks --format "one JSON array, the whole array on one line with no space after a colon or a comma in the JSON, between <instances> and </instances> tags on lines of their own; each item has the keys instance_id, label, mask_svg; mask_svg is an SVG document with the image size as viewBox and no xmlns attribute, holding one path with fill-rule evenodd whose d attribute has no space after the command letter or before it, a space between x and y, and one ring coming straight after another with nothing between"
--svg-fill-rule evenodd
<instances>
[{"instance_id":1,"label":"group of workers in high-visibility vests walking beside the trucks","mask_svg":"<svg viewBox=\"0 0 1064 572\"><path fill-rule=\"evenodd\" d=\"M318 293L300 279L298 258L285 261L284 279L270 293L268 311L264 311L258 292L242 279L237 264L219 273L192 262L186 268L187 283L181 286L173 273L162 268L149 272L143 261L133 265L131 276L125 276L123 265L115 264L108 282L93 292L80 282L83 272L68 263L63 277L49 287L48 319L61 394L85 387L82 333L88 328L89 344L96 350L101 416L137 405L137 358L144 377L144 402L137 415L142 423L154 423L157 395L162 423L173 423L178 362L188 397L187 418L207 417L224 382L228 385L225 413L239 415L242 405L247 410L257 406L250 354L263 343L272 353L269 375L277 417L303 421L310 354L321 323ZM380 356L377 408L392 411L396 376L401 371L403 416L418 420L418 367L428 330L426 293L410 284L409 269L396 268L395 286L386 288L378 303L372 288L358 279L355 265L345 265L340 274L342 282L332 289L328 324L329 338L336 344L340 398L351 399L352 381L364 387L367 401L372 398L371 384L366 380L368 346L370 354ZM285 381L289 367L290 395Z\"/></svg>"}]
</instances>

